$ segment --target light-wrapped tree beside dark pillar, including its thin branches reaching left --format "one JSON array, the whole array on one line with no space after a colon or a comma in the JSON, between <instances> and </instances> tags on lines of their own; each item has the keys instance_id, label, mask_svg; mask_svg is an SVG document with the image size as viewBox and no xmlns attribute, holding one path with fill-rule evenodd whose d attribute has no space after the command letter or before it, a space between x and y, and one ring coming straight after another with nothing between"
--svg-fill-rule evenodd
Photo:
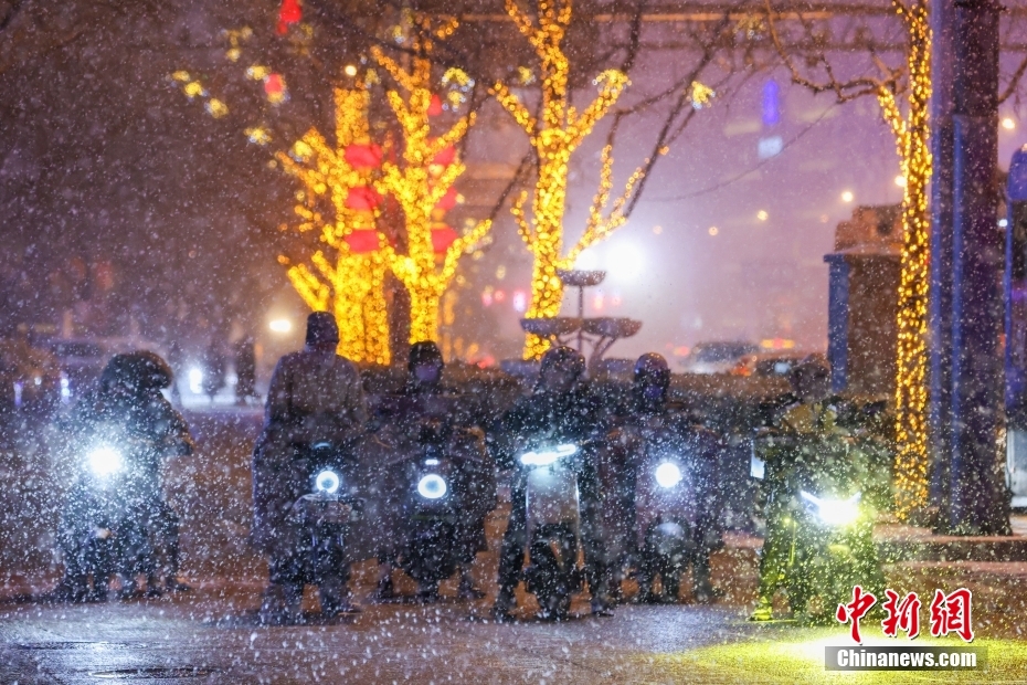
<instances>
[{"instance_id":1,"label":"light-wrapped tree beside dark pillar, including its thin branches reaching left","mask_svg":"<svg viewBox=\"0 0 1027 685\"><path fill-rule=\"evenodd\" d=\"M927 330L928 285L930 281L930 212L928 183L931 180L931 150L928 120L931 98L931 29L927 0L893 0L906 38L906 63L889 67L872 55L879 75L841 81L835 76L823 49L806 54L806 65L822 66L827 80L803 76L794 55L774 28L771 35L792 72L792 81L815 93L832 92L844 103L864 95L877 98L881 114L896 137L900 180L903 186L901 275L898 292L898 349L896 371L896 463L894 504L898 515L909 517L928 502L928 388ZM811 25L803 22L811 35ZM808 44L808 43L806 43ZM903 114L901 103L904 101Z\"/></svg>"}]
</instances>

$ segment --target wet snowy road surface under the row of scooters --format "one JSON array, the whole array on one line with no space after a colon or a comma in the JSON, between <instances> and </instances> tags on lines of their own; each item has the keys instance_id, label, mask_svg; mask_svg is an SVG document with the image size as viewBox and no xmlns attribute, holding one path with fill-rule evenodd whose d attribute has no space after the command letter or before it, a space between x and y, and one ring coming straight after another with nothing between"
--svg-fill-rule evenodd
<instances>
[{"instance_id":1,"label":"wet snowy road surface under the row of scooters","mask_svg":"<svg viewBox=\"0 0 1027 685\"><path fill-rule=\"evenodd\" d=\"M443 587L448 598L434 605L373 604L367 596L374 584L374 565L366 562L353 573L362 614L321 622L310 613L304 625L261 626L255 610L266 570L246 545L248 456L260 414L194 413L189 420L199 453L169 465L167 487L182 516L183 576L195 590L159 600L87 605L33 601L31 596L45 592L60 570L50 552L57 498L50 487L59 474L47 472L40 441L17 454L0 454L3 482L18 486L17 496L0 498L6 524L0 527L0 685L829 679L822 647L808 646L823 640L823 631L744 621L756 581L751 545L729 545L714 556L713 580L724 596L713 607L687 603L686 591L685 604L624 605L613 618L579 616L553 624L531 620L533 601L521 594L523 621L497 625L479 620L496 591L504 509L490 518L489 551L475 566L479 586L490 594L485 600L453 600L451 580ZM1027 657L1019 656L1024 629L1017 618L1027 615L1027 575L999 577L994 569L957 565L889 569L889 584L902 591L927 593L940 579L946 586L973 587L985 644L993 635L1004 639L991 647L1002 658L987 677L974 674L964 682L1027 682ZM414 589L402 577L398 586L406 593ZM306 608L315 609L313 597ZM587 603L580 598L574 609L582 614ZM846 634L839 626L826 633L837 644ZM843 679L934 679L927 673L885 674L885 679L864 675L845 674Z\"/></svg>"}]
</instances>

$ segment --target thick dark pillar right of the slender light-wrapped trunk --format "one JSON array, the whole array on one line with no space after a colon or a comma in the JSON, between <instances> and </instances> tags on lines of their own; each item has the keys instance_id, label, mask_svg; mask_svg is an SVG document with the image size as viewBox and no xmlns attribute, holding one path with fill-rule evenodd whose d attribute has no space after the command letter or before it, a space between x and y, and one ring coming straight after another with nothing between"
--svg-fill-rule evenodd
<instances>
[{"instance_id":1,"label":"thick dark pillar right of the slender light-wrapped trunk","mask_svg":"<svg viewBox=\"0 0 1027 685\"><path fill-rule=\"evenodd\" d=\"M947 520L941 523L960 535L1009 529L1008 502L995 468L1003 319L993 187L999 9L995 0L959 0L953 25L951 466Z\"/></svg>"}]
</instances>

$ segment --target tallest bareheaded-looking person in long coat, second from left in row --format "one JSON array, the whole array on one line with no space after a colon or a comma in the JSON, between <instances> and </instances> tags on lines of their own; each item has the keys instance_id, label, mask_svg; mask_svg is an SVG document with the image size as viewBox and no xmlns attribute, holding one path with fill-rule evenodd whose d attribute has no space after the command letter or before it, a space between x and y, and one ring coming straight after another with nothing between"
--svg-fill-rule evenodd
<instances>
[{"instance_id":1,"label":"tallest bareheaded-looking person in long coat, second from left in row","mask_svg":"<svg viewBox=\"0 0 1027 685\"><path fill-rule=\"evenodd\" d=\"M346 445L363 430L367 402L357 367L336 354L339 328L330 314L307 318L303 351L283 357L267 392L264 430L253 450L253 529L251 541L267 556L269 587L262 615L294 616L303 599L295 593L295 535L289 510L308 488L297 450L317 441ZM346 576L346 569L341 569ZM345 587L346 579L341 580ZM352 609L346 607L346 610Z\"/></svg>"}]
</instances>

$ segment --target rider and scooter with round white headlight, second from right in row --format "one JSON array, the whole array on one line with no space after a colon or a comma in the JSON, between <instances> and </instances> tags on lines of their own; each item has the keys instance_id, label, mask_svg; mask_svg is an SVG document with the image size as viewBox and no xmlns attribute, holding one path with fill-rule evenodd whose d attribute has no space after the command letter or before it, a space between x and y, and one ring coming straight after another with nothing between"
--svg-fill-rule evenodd
<instances>
[{"instance_id":1,"label":"rider and scooter with round white headlight, second from right in row","mask_svg":"<svg viewBox=\"0 0 1027 685\"><path fill-rule=\"evenodd\" d=\"M640 601L677 601L680 575L691 566L695 600L707 603L713 599L710 554L723 545L721 445L669 400L669 387L670 367L660 355L638 358L627 411L608 438L613 453L626 452L621 472L627 478L612 488L621 496L606 510L614 525L633 524L618 547L634 560Z\"/></svg>"}]
</instances>

